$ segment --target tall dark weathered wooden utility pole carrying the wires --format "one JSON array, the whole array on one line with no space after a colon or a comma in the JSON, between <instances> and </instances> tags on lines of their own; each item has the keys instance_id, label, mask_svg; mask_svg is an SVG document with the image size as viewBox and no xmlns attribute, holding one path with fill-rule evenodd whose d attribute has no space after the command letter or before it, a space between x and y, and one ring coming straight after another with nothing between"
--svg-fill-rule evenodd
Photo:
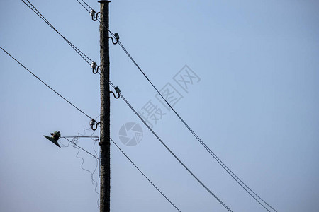
<instances>
[{"instance_id":1,"label":"tall dark weathered wooden utility pole carrying the wires","mask_svg":"<svg viewBox=\"0 0 319 212\"><path fill-rule=\"evenodd\" d=\"M101 54L101 189L100 212L110 211L111 194L111 160L110 160L110 55L108 44L108 4L110 1L99 1L100 7L100 54Z\"/></svg>"}]
</instances>

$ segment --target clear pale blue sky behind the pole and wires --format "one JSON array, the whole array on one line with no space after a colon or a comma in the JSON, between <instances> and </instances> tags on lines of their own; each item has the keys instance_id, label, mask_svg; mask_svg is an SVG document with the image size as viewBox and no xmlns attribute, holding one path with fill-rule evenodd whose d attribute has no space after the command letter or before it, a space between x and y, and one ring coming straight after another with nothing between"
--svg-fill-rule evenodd
<instances>
[{"instance_id":1,"label":"clear pale blue sky behind the pole and wires","mask_svg":"<svg viewBox=\"0 0 319 212\"><path fill-rule=\"evenodd\" d=\"M99 64L99 23L77 1L31 2ZM86 2L99 11L96 1ZM174 108L254 192L277 211L315 212L318 8L318 1L295 0L114 0L110 28L157 88L171 83L179 90L183 98ZM0 46L89 116L99 116L99 76L22 1L0 1ZM265 211L155 98L123 50L111 45L110 51L111 81L136 110L152 100L166 113L153 129L189 169L233 211ZM173 79L184 65L201 78L188 93ZM0 211L99 211L77 149L43 137L57 130L83 134L90 120L2 51L0 70ZM137 146L118 137L127 122L142 126ZM111 98L111 138L181 211L225 211L121 99ZM79 145L94 153L94 141ZM90 155L79 156L84 168L95 169ZM111 211L176 211L114 145Z\"/></svg>"}]
</instances>

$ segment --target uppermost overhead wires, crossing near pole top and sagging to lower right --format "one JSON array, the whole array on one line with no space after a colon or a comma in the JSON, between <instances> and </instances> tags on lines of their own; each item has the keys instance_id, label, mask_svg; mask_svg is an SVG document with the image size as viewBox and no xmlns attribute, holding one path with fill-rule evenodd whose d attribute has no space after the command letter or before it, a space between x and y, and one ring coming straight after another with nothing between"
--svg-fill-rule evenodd
<instances>
[{"instance_id":1,"label":"uppermost overhead wires, crossing near pole top and sagging to lower right","mask_svg":"<svg viewBox=\"0 0 319 212\"><path fill-rule=\"evenodd\" d=\"M82 0L83 1L83 0ZM84 2L85 3L85 2ZM86 3L85 3L86 4ZM89 6L88 4L86 4L87 6ZM82 5L83 6L83 5ZM84 6L85 8L85 6ZM89 8L91 8L89 6ZM92 8L91 8L92 9ZM86 8L86 10L88 11L88 9ZM99 16L97 16L97 19L99 21L99 23L101 23ZM104 28L106 28L105 25L103 25ZM109 30L108 28L106 28L108 30L109 33L111 33L111 35L115 38L115 35L111 32L111 30ZM167 100L163 97L162 93L159 92L159 90L155 87L155 85L152 83L152 81L150 81L150 78L147 77L147 75L144 73L144 71L142 71L142 69L140 68L140 66L138 65L138 63L135 61L135 59L133 59L133 57L130 55L130 53L125 49L125 47L122 45L121 41L118 40L118 45L120 45L120 47L123 49L123 51L125 52L125 54L128 55L128 57L130 58L131 61L133 61L133 64L135 64L135 66L140 70L140 72L142 73L143 76L145 76L145 78L147 79L147 81L152 85L152 87L157 91L157 93L162 97L162 99L164 100L164 102L167 103L167 105L173 110L173 112L177 115L177 117L180 119L180 121L186 126L187 129L189 129L189 131L191 132L191 134L194 135L194 137L199 141L199 143L201 143L201 145L206 149L206 151L208 151L208 153L211 154L211 156L220 164L221 167L223 167L223 169L228 172L228 174L230 175L230 177L233 177L233 179L235 179L235 182L237 182L240 187L242 187L243 189L245 189L245 191L250 194L250 196L252 196L252 198L257 201L262 207L264 207L267 211L269 211L269 209L264 206L264 204L266 204L267 206L269 206L270 208L272 208L274 211L276 211L276 209L274 209L272 206L270 206L266 201L264 201L264 199L262 199L262 197L260 197L259 195L257 195L252 189L250 189L250 187L247 186L247 184L245 184L245 182L242 182L242 179L240 179L239 177L237 177L237 175L235 175L235 173L230 170L230 168L225 165L225 163L223 163L222 160L220 160L220 158L218 158L218 156L213 153L213 151L211 151L210 148L208 148L208 146L206 145L206 143L204 143L201 138L195 133L195 131L193 129L191 129L191 127L184 121L184 119L181 118L181 116L177 113L176 110L174 110L174 108L172 107L172 105L169 104L169 102L167 102ZM245 187L244 187L245 186ZM249 190L249 191L248 191ZM251 193L252 192L252 193ZM257 196L262 202L264 202L264 204L262 204L255 196ZM269 211L270 212L270 211ZM277 211L276 211L277 212Z\"/></svg>"}]
</instances>

